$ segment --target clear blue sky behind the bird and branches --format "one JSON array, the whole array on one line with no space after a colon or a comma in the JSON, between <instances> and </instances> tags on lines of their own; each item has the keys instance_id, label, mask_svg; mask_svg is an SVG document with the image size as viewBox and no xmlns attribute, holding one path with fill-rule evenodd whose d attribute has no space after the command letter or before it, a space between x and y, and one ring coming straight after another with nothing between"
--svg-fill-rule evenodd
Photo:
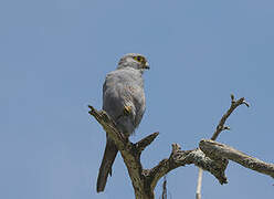
<instances>
[{"instance_id":1,"label":"clear blue sky behind the bird and branches","mask_svg":"<svg viewBox=\"0 0 274 199\"><path fill-rule=\"evenodd\" d=\"M273 0L0 1L0 198L134 198L118 156L104 193L96 178L105 133L87 112L128 52L147 56L147 111L131 140L160 132L145 168L209 138L244 96L219 142L273 163ZM172 199L194 198L198 169L168 176ZM204 172L203 199L273 198L268 176L230 163L229 184ZM160 185L156 188L157 198Z\"/></svg>"}]
</instances>

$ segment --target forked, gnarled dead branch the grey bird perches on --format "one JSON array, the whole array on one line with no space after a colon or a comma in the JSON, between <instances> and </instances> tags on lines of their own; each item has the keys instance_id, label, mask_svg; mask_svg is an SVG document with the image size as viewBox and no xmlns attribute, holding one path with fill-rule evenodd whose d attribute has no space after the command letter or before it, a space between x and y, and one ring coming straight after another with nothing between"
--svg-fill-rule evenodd
<instances>
[{"instance_id":1,"label":"forked, gnarled dead branch the grey bird perches on","mask_svg":"<svg viewBox=\"0 0 274 199\"><path fill-rule=\"evenodd\" d=\"M172 145L172 151L169 158L162 159L151 169L143 169L140 163L141 151L152 143L158 136L158 133L154 133L140 142L133 144L117 130L115 123L104 111L98 112L92 106L88 107L91 108L88 113L103 126L119 149L128 169L135 190L135 197L137 199L154 199L154 189L162 176L172 169L190 164L194 164L196 166L210 171L220 184L226 182L226 177L224 176L224 170L228 165L226 159L210 159L209 157L205 157L199 148L193 150L181 150L178 144Z\"/></svg>"}]
</instances>

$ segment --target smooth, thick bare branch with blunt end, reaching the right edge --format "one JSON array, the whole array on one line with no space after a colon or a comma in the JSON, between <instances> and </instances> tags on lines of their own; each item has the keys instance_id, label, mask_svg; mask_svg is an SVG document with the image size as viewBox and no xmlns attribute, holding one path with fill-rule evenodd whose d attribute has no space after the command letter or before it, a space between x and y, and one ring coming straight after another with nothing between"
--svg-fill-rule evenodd
<instances>
[{"instance_id":1,"label":"smooth, thick bare branch with blunt end, reaching the right edge","mask_svg":"<svg viewBox=\"0 0 274 199\"><path fill-rule=\"evenodd\" d=\"M274 164L264 163L228 145L217 143L213 140L202 139L199 146L201 150L212 159L223 157L235 161L245 168L250 168L252 170L262 172L274 178Z\"/></svg>"}]
</instances>

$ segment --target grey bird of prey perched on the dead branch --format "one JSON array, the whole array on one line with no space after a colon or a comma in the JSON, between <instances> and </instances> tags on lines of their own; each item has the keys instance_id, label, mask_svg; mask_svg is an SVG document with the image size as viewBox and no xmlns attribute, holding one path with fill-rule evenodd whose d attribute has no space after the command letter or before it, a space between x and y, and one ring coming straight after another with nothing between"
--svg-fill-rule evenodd
<instances>
[{"instance_id":1,"label":"grey bird of prey perched on the dead branch","mask_svg":"<svg viewBox=\"0 0 274 199\"><path fill-rule=\"evenodd\" d=\"M103 111L128 138L135 133L146 111L143 74L149 70L147 59L139 53L125 54L115 71L106 75L103 85ZM106 146L97 177L97 192L105 189L118 149L106 135Z\"/></svg>"}]
</instances>

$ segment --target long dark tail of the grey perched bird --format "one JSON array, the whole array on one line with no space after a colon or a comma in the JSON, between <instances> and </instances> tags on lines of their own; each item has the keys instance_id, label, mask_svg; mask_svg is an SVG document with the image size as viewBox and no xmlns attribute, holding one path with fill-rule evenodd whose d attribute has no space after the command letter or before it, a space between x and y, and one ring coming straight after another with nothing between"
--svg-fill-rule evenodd
<instances>
[{"instance_id":1,"label":"long dark tail of the grey perched bird","mask_svg":"<svg viewBox=\"0 0 274 199\"><path fill-rule=\"evenodd\" d=\"M113 163L115 160L117 153L118 153L118 149L116 145L114 144L114 142L110 139L107 139L104 157L101 163L99 174L97 177L97 192L104 191L108 174L112 176L112 166L113 166Z\"/></svg>"}]
</instances>

